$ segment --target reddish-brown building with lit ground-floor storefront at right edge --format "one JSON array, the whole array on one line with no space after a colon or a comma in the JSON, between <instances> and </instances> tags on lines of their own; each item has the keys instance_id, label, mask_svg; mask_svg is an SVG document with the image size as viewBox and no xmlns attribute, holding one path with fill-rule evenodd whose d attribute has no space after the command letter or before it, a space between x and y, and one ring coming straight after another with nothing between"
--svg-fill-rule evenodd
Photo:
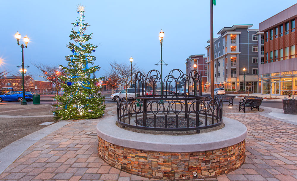
<instances>
[{"instance_id":1,"label":"reddish-brown building with lit ground-floor storefront at right edge","mask_svg":"<svg viewBox=\"0 0 297 181\"><path fill-rule=\"evenodd\" d=\"M264 34L264 62L259 65L262 93L297 95L297 4L259 24Z\"/></svg>"}]
</instances>

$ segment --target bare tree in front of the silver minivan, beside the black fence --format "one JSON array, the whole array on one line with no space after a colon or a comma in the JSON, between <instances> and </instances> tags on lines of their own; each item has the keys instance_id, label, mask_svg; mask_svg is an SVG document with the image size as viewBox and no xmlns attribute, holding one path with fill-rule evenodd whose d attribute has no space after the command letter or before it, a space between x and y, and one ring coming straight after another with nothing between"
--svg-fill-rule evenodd
<instances>
[{"instance_id":1,"label":"bare tree in front of the silver minivan, beside the black fence","mask_svg":"<svg viewBox=\"0 0 297 181\"><path fill-rule=\"evenodd\" d=\"M130 87L131 84L131 66L128 63L124 62L110 62L109 63L110 68L108 72L110 74L114 74L115 76L118 76L119 82L126 88L126 100L128 100L127 97L127 88ZM138 72L139 68L136 64L132 65L132 75L135 74L135 72ZM132 76L133 78L133 76Z\"/></svg>"}]
</instances>

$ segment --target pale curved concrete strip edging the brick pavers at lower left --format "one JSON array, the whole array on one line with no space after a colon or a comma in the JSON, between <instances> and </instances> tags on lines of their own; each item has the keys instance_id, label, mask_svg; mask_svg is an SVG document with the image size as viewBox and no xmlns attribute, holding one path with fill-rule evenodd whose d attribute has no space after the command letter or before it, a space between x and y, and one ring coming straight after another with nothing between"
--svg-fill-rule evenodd
<instances>
[{"instance_id":1,"label":"pale curved concrete strip edging the brick pavers at lower left","mask_svg":"<svg viewBox=\"0 0 297 181\"><path fill-rule=\"evenodd\" d=\"M59 121L43 129L35 131L15 142L7 145L0 150L0 174L7 169L22 153L24 153L29 147L34 145L40 139L44 138L48 134L62 128L63 126L71 123L70 121Z\"/></svg>"}]
</instances>

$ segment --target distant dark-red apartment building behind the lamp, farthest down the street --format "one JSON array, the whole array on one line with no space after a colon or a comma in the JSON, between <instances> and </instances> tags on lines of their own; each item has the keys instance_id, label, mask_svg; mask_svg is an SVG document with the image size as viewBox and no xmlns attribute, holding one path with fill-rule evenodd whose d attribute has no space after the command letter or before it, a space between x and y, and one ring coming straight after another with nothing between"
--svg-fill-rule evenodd
<instances>
[{"instance_id":1,"label":"distant dark-red apartment building behind the lamp, farthest down the street","mask_svg":"<svg viewBox=\"0 0 297 181\"><path fill-rule=\"evenodd\" d=\"M191 55L186 59L186 74L189 74L191 70L196 70L201 74L202 91L206 91L205 84L207 82L207 57L203 55ZM194 67L196 65L196 68Z\"/></svg>"}]
</instances>

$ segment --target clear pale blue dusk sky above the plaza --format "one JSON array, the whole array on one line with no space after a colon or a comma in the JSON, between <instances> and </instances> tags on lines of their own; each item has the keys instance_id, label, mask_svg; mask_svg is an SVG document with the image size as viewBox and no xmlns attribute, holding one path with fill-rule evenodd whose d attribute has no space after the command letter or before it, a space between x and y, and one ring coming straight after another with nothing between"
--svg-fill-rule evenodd
<instances>
[{"instance_id":1,"label":"clear pale blue dusk sky above the plaza","mask_svg":"<svg viewBox=\"0 0 297 181\"><path fill-rule=\"evenodd\" d=\"M234 24L259 23L295 4L294 0L217 0L214 6L214 37L223 27ZM159 31L165 32L163 40L163 76L171 69L185 73L185 59L190 55L206 54L206 42L210 39L210 2L193 1L1 1L0 72L17 72L21 59L21 48L14 34L19 31L30 38L24 50L25 63L30 74L38 78L37 69L30 61L44 64L66 65L66 47L72 22L78 14L76 5L85 6L85 19L89 26L87 34L93 33L89 41L98 45L95 65L101 66L97 77L108 70L108 62L133 63L148 72L160 69L155 64L160 60ZM78 30L76 28L75 30ZM4 63L3 63L4 62Z\"/></svg>"}]
</instances>

